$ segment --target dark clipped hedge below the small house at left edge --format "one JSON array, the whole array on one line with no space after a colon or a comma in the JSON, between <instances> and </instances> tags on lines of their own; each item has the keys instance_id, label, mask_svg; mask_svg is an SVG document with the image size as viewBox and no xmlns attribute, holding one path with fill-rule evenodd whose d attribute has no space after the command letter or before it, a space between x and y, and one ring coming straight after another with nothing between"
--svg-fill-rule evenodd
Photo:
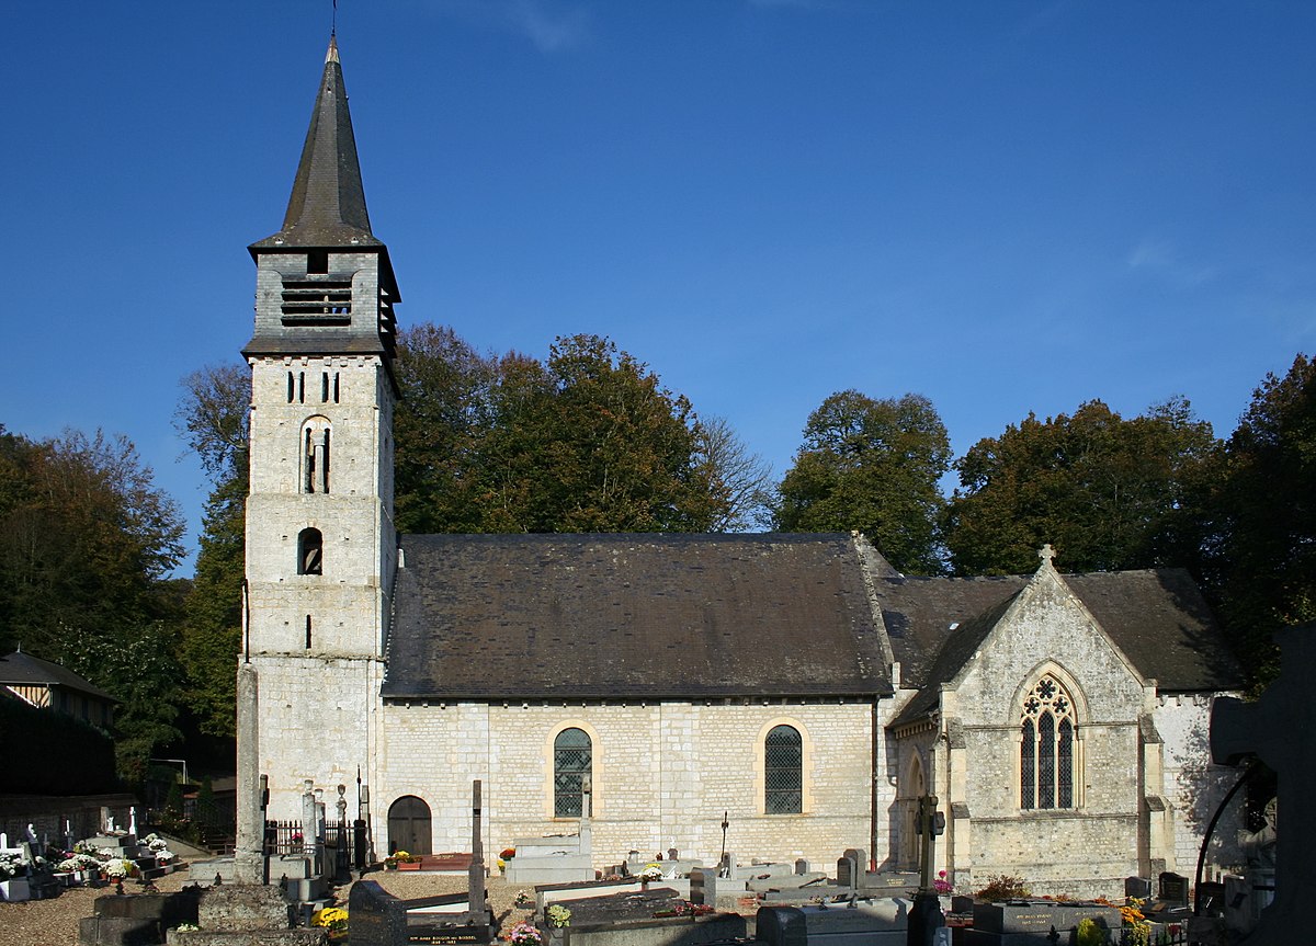
<instances>
[{"instance_id":1,"label":"dark clipped hedge below the small house at left edge","mask_svg":"<svg viewBox=\"0 0 1316 946\"><path fill-rule=\"evenodd\" d=\"M0 793L95 795L118 789L114 743L83 720L0 700Z\"/></svg>"}]
</instances>

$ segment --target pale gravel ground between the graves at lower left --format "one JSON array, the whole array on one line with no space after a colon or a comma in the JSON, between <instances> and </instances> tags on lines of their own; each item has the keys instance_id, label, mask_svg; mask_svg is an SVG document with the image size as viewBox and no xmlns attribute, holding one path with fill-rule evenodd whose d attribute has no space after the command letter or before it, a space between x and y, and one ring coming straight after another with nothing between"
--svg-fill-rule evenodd
<instances>
[{"instance_id":1,"label":"pale gravel ground between the graves at lower left","mask_svg":"<svg viewBox=\"0 0 1316 946\"><path fill-rule=\"evenodd\" d=\"M458 893L466 889L466 875L421 874L400 871L376 871L366 875L367 880L378 880L384 889L403 900L434 896L438 893ZM186 870L168 874L155 882L162 893L182 889L190 883ZM136 882L124 884L125 893L137 893ZM346 905L350 884L336 891L337 899ZM530 909L513 905L517 887L511 887L503 878L490 878L488 896L494 916L505 935L519 920L528 918ZM113 892L112 887L93 889L72 887L54 900L29 900L21 904L0 903L0 943L3 946L76 946L78 921L92 914L96 897ZM533 889L529 891L532 895Z\"/></svg>"}]
</instances>

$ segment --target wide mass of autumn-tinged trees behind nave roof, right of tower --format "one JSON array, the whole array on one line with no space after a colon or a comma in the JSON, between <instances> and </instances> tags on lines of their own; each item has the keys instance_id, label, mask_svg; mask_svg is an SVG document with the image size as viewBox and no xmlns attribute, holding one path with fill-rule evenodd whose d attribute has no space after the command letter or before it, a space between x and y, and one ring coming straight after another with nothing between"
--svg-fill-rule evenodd
<instances>
[{"instance_id":1,"label":"wide mass of autumn-tinged trees behind nave roof, right of tower","mask_svg":"<svg viewBox=\"0 0 1316 946\"><path fill-rule=\"evenodd\" d=\"M403 334L396 507L413 532L703 532L732 488L690 403L605 338L547 362L480 355L450 329ZM720 455L725 455L720 454Z\"/></svg>"}]
</instances>

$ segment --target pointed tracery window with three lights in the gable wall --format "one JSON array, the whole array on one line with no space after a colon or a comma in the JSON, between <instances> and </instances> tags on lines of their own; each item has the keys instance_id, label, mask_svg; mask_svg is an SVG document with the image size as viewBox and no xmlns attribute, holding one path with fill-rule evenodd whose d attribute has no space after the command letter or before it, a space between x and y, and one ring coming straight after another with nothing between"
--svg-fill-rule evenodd
<instances>
[{"instance_id":1,"label":"pointed tracery window with three lights in the gable wall","mask_svg":"<svg viewBox=\"0 0 1316 946\"><path fill-rule=\"evenodd\" d=\"M1074 700L1050 674L1024 697L1020 730L1019 807L1074 808Z\"/></svg>"}]
</instances>

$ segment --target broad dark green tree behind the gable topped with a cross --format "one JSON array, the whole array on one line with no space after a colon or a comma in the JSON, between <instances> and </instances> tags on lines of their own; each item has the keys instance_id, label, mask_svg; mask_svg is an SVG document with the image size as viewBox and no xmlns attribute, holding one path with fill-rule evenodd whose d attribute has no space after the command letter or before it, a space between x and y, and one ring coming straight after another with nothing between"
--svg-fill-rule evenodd
<instances>
[{"instance_id":1,"label":"broad dark green tree behind the gable topped with a cross","mask_svg":"<svg viewBox=\"0 0 1316 946\"><path fill-rule=\"evenodd\" d=\"M955 462L946 545L955 574L1019 574L1055 546L1066 571L1182 564L1174 535L1217 450L1187 400L1124 420L1101 401L1029 414Z\"/></svg>"}]
</instances>

